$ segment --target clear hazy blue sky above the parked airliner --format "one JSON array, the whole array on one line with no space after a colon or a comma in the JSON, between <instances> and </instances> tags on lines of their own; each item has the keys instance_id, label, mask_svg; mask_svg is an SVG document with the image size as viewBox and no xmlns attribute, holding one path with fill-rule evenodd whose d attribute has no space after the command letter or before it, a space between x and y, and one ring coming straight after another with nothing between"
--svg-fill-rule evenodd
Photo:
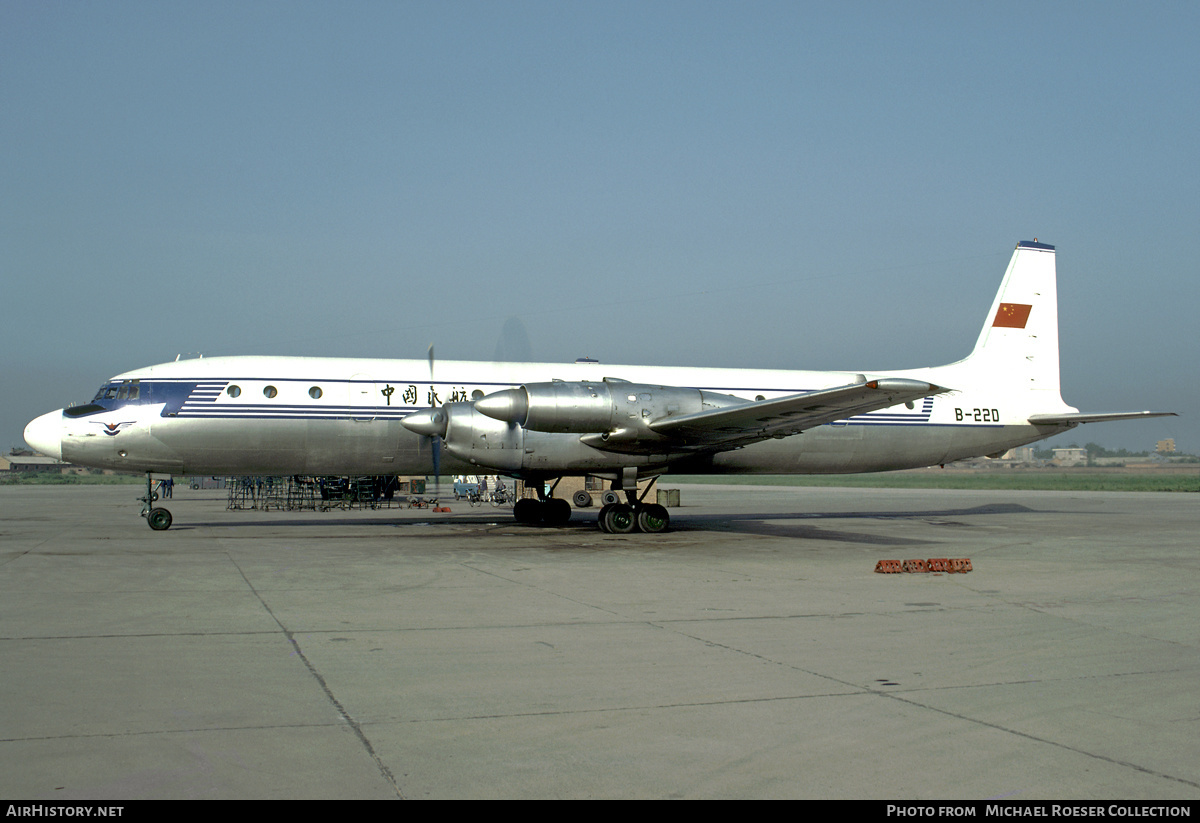
<instances>
[{"instance_id":1,"label":"clear hazy blue sky above the parked airliner","mask_svg":"<svg viewBox=\"0 0 1200 823\"><path fill-rule=\"evenodd\" d=\"M1200 452L1195 2L0 0L2 432L180 353L956 360Z\"/></svg>"}]
</instances>

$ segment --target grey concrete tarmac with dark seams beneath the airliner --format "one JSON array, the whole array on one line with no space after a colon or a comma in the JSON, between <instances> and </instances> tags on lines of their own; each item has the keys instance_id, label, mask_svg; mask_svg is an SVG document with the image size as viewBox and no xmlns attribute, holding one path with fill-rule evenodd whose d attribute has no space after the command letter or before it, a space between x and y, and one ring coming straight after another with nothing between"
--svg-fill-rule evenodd
<instances>
[{"instance_id":1,"label":"grey concrete tarmac with dark seams beneath the airliner","mask_svg":"<svg viewBox=\"0 0 1200 823\"><path fill-rule=\"evenodd\" d=\"M680 488L617 536L2 487L0 797L1200 797L1194 494Z\"/></svg>"}]
</instances>

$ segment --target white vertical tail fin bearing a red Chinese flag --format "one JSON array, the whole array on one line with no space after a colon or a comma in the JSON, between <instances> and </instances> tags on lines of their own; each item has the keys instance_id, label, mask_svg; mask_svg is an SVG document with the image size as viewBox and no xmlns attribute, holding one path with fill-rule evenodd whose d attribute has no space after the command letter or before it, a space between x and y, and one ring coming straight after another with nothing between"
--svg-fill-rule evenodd
<instances>
[{"instance_id":1,"label":"white vertical tail fin bearing a red Chinese flag","mask_svg":"<svg viewBox=\"0 0 1200 823\"><path fill-rule=\"evenodd\" d=\"M1040 408L1061 408L1058 382L1058 288L1054 246L1016 244L979 340L961 361L994 384L1036 391ZM1045 392L1045 394L1042 394Z\"/></svg>"}]
</instances>

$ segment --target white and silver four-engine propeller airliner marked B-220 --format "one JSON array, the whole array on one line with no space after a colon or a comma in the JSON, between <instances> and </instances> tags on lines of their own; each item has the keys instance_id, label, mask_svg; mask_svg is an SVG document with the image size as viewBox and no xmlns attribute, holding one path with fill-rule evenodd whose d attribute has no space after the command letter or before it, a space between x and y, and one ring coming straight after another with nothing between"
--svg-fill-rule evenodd
<instances>
[{"instance_id":1,"label":"white and silver four-engine propeller airliner marked B-220","mask_svg":"<svg viewBox=\"0 0 1200 823\"><path fill-rule=\"evenodd\" d=\"M232 356L118 374L90 403L42 415L25 441L77 465L193 475L502 474L560 523L562 476L611 481L606 531L661 531L637 480L685 474L906 469L1159 416L1081 414L1058 382L1055 247L1018 244L971 354L947 366L811 372L575 364Z\"/></svg>"}]
</instances>

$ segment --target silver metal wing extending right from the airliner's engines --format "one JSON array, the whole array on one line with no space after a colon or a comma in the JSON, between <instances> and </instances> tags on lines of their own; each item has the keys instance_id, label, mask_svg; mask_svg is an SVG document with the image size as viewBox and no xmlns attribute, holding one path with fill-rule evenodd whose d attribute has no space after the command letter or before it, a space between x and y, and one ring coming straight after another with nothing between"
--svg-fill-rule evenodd
<instances>
[{"instance_id":1,"label":"silver metal wing extending right from the airliner's engines","mask_svg":"<svg viewBox=\"0 0 1200 823\"><path fill-rule=\"evenodd\" d=\"M649 428L690 447L737 449L784 438L856 414L937 395L948 389L923 380L881 378L776 400L662 417Z\"/></svg>"}]
</instances>

